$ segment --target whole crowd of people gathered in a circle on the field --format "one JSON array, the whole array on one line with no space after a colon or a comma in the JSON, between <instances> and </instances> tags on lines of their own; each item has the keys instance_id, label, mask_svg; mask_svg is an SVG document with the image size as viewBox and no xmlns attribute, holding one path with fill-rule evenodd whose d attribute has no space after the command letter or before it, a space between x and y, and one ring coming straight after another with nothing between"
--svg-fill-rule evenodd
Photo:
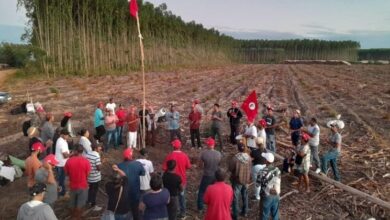
<instances>
[{"instance_id":1,"label":"whole crowd of people gathered in a circle on the field","mask_svg":"<svg viewBox=\"0 0 390 220\"><path fill-rule=\"evenodd\" d=\"M295 110L289 123L291 155L279 169L274 165L277 151L278 124L274 109L266 107L259 120L246 121L236 101L224 115L219 104L214 104L210 115L204 113L199 100L194 100L188 115L191 136L190 148L199 148L199 162L191 164L182 151L181 115L171 105L164 115L169 131L172 151L165 157L162 174L155 172L146 148L140 149L145 123L145 141L155 146L157 121L151 105L137 113L135 106L126 109L113 99L99 102L93 115L94 131L81 128L74 132L71 112L65 112L60 126L55 129L54 116L43 108L32 117L27 130L30 156L25 161L27 188L31 201L23 204L17 219L57 219L53 206L59 199L69 200L72 219L82 219L83 209L99 212L96 198L102 182L102 154L123 150L123 161L110 166L111 175L105 180L108 196L102 219L175 220L186 217L187 172L202 171L197 191L197 209L207 220L238 219L246 217L248 200L259 204L259 219L279 219L281 173L298 176L298 188L310 192L309 171L327 173L330 163L334 178L340 180L337 158L341 150L340 126L330 123L331 135L327 139L331 148L319 156L320 127L316 118L305 121ZM202 117L211 121L210 137L203 143L200 137ZM222 127L227 117L230 125L230 143L224 143ZM94 132L92 136L91 133ZM141 143L140 143L141 142ZM321 143L325 145L325 143ZM204 148L203 145L206 145ZM222 161L226 147L237 147L237 153ZM139 157L134 152L140 149ZM152 149L153 148L148 148ZM230 184L227 184L229 177ZM249 195L249 187L253 193ZM67 188L69 187L69 189ZM241 205L240 205L241 203Z\"/></svg>"}]
</instances>

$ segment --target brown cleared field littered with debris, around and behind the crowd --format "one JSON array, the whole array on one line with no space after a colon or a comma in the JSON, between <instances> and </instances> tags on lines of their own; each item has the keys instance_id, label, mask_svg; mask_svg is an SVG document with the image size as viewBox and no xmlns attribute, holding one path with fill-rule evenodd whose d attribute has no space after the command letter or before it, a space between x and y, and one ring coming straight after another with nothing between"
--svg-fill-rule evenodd
<instances>
[{"instance_id":1,"label":"brown cleared field littered with debris, around and behind the crowd","mask_svg":"<svg viewBox=\"0 0 390 220\"><path fill-rule=\"evenodd\" d=\"M287 109L285 113L275 114L279 121L286 121L277 131L277 139L285 143L290 143L287 121L293 109L301 109L306 119L317 117L322 140L329 133L326 122L341 114L346 124L342 131L343 149L339 160L342 183L390 201L388 65L237 65L202 71L151 72L146 78L147 101L156 108L168 107L169 102L177 103L186 140L184 151L193 163L197 161L199 151L189 150L189 123L186 118L194 98L201 100L206 113L210 113L214 103L219 103L226 111L231 100L241 102L250 91L256 90L261 105L271 103L277 109ZM30 80L4 85L12 93L13 101L0 106L0 151L20 158L27 156L28 140L21 133L21 124L27 116L9 114L10 109L25 101L27 91L34 102L41 102L47 111L55 114L56 125L59 125L64 111L72 111L77 130L81 127L92 129L93 111L98 101L114 97L116 103L140 106L141 85L140 74ZM263 107L260 110L263 111ZM207 136L209 123L207 119L202 122L203 137ZM224 161L227 161L236 150L227 144L227 119L224 125L227 149ZM156 147L149 148L150 158L155 169L161 171L161 163L171 149L164 124L159 125L157 143ZM328 147L321 144L320 152ZM278 146L278 152L287 155L282 146ZM103 174L106 177L110 164L120 162L121 157L120 152L114 150L105 157ZM281 164L281 161L277 163ZM187 219L202 219L196 211L201 170L193 168L188 176ZM294 177L283 175L282 197L295 190L291 184L293 181ZM26 180L22 178L0 188L0 219L15 219L18 207L28 200L25 186ZM103 184L100 188L104 189ZM106 197L102 192L98 195L99 204L105 206ZM281 219L390 219L390 210L316 179L311 179L310 193L292 193L283 197L280 210ZM66 219L66 201L58 202L55 212L60 219ZM251 201L247 219L254 219L257 213L258 204ZM85 219L99 219L99 214L89 212Z\"/></svg>"}]
</instances>

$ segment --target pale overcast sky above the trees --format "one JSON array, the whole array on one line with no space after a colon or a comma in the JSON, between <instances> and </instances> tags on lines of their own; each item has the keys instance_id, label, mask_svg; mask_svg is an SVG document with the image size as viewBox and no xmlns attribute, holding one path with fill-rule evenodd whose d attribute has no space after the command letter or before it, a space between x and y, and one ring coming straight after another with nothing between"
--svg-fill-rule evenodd
<instances>
[{"instance_id":1,"label":"pale overcast sky above the trees","mask_svg":"<svg viewBox=\"0 0 390 220\"><path fill-rule=\"evenodd\" d=\"M111 0L114 1L114 0ZM390 48L390 0L147 0L185 21L236 38L357 40ZM16 0L0 0L0 24L26 23Z\"/></svg>"}]
</instances>

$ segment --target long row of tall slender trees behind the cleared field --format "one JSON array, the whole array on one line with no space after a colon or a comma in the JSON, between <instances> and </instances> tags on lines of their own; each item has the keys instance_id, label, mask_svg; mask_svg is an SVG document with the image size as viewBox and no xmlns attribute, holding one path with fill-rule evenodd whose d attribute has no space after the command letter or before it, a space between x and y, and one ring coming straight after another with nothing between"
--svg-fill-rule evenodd
<instances>
[{"instance_id":1,"label":"long row of tall slender trees behind the cleared field","mask_svg":"<svg viewBox=\"0 0 390 220\"><path fill-rule=\"evenodd\" d=\"M18 0L26 8L38 69L56 74L128 72L139 68L135 21L127 0ZM138 3L146 67L199 66L284 59L356 59L352 41L236 40L184 22L167 6Z\"/></svg>"}]
</instances>

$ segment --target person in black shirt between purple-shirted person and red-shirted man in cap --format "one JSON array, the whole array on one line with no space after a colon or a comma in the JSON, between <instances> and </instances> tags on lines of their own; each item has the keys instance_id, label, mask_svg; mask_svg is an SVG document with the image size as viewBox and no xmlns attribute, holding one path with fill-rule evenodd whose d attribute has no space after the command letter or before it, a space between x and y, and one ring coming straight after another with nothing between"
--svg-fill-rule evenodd
<instances>
[{"instance_id":1,"label":"person in black shirt between purple-shirted person and red-shirted man in cap","mask_svg":"<svg viewBox=\"0 0 390 220\"><path fill-rule=\"evenodd\" d=\"M183 189L180 176L175 174L176 161L169 160L167 162L167 168L168 170L163 175L163 185L168 189L171 197L168 203L168 218L169 220L176 220L179 207L178 195Z\"/></svg>"}]
</instances>

